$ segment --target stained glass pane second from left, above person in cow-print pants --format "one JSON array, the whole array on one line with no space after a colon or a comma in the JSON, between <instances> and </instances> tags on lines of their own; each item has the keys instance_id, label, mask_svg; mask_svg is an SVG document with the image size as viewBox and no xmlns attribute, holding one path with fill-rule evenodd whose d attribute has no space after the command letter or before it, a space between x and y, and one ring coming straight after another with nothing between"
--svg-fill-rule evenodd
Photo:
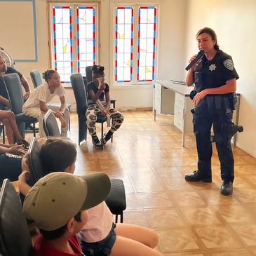
<instances>
[{"instance_id":1,"label":"stained glass pane second from left, above person in cow-print pants","mask_svg":"<svg viewBox=\"0 0 256 256\"><path fill-rule=\"evenodd\" d=\"M95 65L95 7L77 7L77 65L78 72L86 74L86 67Z\"/></svg>"}]
</instances>

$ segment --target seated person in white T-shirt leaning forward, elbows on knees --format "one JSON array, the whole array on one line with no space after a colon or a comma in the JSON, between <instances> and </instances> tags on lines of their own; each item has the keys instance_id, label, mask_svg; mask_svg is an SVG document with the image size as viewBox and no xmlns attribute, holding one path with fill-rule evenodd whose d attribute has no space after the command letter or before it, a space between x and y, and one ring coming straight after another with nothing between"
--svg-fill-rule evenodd
<instances>
[{"instance_id":1,"label":"seated person in white T-shirt leaning forward, elbows on knees","mask_svg":"<svg viewBox=\"0 0 256 256\"><path fill-rule=\"evenodd\" d=\"M39 135L40 137L46 137L43 131L43 116L48 109L52 109L55 112L55 117L60 119L61 135L67 136L69 110L65 106L65 88L60 83L60 75L55 70L48 69L43 74L43 78L46 80L46 83L36 87L36 89L29 95L29 98L23 105L22 111L27 116L39 119ZM60 97L60 108L47 105L54 96Z\"/></svg>"}]
</instances>

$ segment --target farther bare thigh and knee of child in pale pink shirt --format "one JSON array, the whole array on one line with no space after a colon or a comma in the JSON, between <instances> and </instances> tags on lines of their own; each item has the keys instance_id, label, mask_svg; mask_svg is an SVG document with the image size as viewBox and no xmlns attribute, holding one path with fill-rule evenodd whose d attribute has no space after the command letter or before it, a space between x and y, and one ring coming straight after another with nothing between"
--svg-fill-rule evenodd
<instances>
[{"instance_id":1,"label":"farther bare thigh and knee of child in pale pink shirt","mask_svg":"<svg viewBox=\"0 0 256 256\"><path fill-rule=\"evenodd\" d=\"M152 229L133 224L116 223L116 236L123 236L155 248L159 243L159 236Z\"/></svg>"}]
</instances>

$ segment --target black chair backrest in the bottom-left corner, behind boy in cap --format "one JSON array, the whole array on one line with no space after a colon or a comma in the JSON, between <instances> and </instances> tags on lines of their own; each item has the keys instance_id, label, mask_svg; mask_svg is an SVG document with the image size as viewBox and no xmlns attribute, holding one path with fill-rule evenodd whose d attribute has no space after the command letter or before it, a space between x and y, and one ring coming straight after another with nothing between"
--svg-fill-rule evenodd
<instances>
[{"instance_id":1,"label":"black chair backrest in the bottom-left corner, behind boy in cap","mask_svg":"<svg viewBox=\"0 0 256 256\"><path fill-rule=\"evenodd\" d=\"M29 256L32 251L27 220L20 198L8 179L0 191L0 253L3 256Z\"/></svg>"}]
</instances>

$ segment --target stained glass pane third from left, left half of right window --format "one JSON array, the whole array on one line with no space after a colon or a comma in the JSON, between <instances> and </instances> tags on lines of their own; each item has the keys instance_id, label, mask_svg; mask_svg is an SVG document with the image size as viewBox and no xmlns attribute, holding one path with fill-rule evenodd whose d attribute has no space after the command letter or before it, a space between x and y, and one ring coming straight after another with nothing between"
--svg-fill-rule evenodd
<instances>
[{"instance_id":1,"label":"stained glass pane third from left, left half of right window","mask_svg":"<svg viewBox=\"0 0 256 256\"><path fill-rule=\"evenodd\" d=\"M117 7L115 22L115 81L133 80L133 8Z\"/></svg>"}]
</instances>

